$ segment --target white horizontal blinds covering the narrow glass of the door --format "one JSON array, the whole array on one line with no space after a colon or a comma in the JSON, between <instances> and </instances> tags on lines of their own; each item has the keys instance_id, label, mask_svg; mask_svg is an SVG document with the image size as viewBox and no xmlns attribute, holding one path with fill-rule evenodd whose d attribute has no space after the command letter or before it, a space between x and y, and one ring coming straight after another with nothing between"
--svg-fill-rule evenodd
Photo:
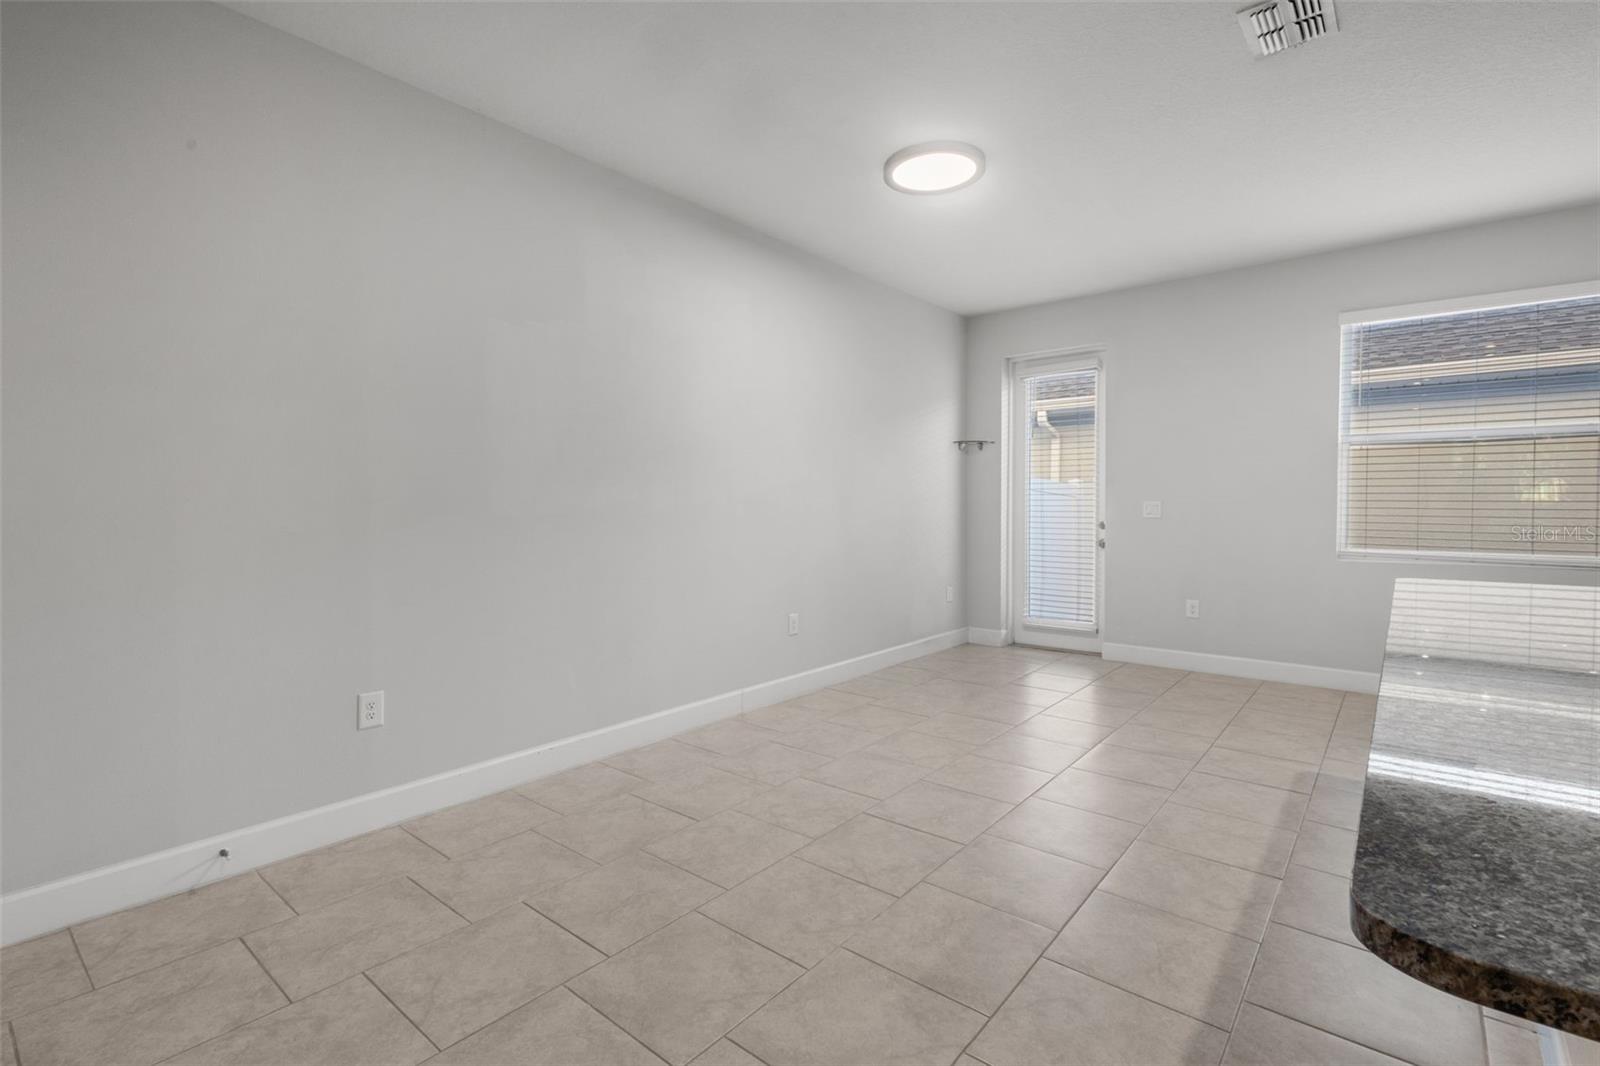
<instances>
[{"instance_id":1,"label":"white horizontal blinds covering the narrow glass of the door","mask_svg":"<svg viewBox=\"0 0 1600 1066\"><path fill-rule=\"evenodd\" d=\"M1099 456L1094 368L1027 378L1027 619L1090 629Z\"/></svg>"}]
</instances>

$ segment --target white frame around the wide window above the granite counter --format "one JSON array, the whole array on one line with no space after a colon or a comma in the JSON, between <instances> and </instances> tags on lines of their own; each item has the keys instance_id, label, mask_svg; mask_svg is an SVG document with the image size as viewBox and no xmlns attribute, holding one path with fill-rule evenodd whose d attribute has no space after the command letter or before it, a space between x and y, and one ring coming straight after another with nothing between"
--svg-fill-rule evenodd
<instances>
[{"instance_id":1,"label":"white frame around the wide window above the granite counter","mask_svg":"<svg viewBox=\"0 0 1600 1066\"><path fill-rule=\"evenodd\" d=\"M1600 296L1600 279L1592 282L1571 282L1568 285L1546 285L1541 288L1518 288L1506 293L1486 293L1483 296L1458 296L1454 299L1435 299L1419 304L1397 304L1392 307L1371 307L1368 311L1347 311L1339 315L1341 346L1336 368L1338 378L1338 475L1334 480L1334 496L1338 519L1333 528L1333 549L1339 560L1347 562L1416 562L1416 563L1448 563L1448 565L1493 565L1493 567L1557 567L1562 570L1594 570L1600 560L1581 555L1522 555L1510 552L1416 552L1394 551L1382 547L1347 547L1349 538L1349 503L1350 493L1346 479L1349 477L1349 448L1346 445L1350 411L1349 391L1344 383L1344 346L1342 333L1347 325L1371 325L1374 322L1394 322L1397 319L1426 319L1429 315L1450 315L1464 311L1494 311L1496 307L1515 307L1518 304L1539 304L1555 299L1578 299L1582 296Z\"/></svg>"}]
</instances>

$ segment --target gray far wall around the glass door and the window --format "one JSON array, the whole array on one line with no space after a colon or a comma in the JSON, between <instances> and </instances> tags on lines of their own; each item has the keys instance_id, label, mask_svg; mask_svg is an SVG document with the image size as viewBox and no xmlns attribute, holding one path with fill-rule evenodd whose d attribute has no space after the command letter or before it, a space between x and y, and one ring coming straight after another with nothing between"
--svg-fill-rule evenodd
<instances>
[{"instance_id":1,"label":"gray far wall around the glass door and the window","mask_svg":"<svg viewBox=\"0 0 1600 1066\"><path fill-rule=\"evenodd\" d=\"M1339 314L1595 277L1582 206L981 315L968 435L998 439L1008 357L1106 346L1106 640L1376 672L1395 576L1595 571L1334 557ZM966 467L968 623L989 629L1006 626L1000 472L994 448Z\"/></svg>"}]
</instances>

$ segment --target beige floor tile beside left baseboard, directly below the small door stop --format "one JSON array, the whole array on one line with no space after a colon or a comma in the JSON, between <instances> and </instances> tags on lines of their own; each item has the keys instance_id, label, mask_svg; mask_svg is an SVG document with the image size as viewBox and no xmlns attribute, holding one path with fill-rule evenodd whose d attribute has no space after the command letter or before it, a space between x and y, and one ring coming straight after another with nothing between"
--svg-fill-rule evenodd
<instances>
[{"instance_id":1,"label":"beige floor tile beside left baseboard, directly below the small door stop","mask_svg":"<svg viewBox=\"0 0 1600 1066\"><path fill-rule=\"evenodd\" d=\"M75 925L72 940L104 986L290 917L294 911L251 872Z\"/></svg>"}]
</instances>

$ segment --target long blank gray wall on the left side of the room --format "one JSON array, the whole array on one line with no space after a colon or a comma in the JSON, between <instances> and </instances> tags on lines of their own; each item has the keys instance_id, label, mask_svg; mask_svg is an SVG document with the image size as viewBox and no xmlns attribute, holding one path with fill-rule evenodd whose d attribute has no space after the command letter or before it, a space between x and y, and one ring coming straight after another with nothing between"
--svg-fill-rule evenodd
<instances>
[{"instance_id":1,"label":"long blank gray wall on the left side of the room","mask_svg":"<svg viewBox=\"0 0 1600 1066\"><path fill-rule=\"evenodd\" d=\"M6 890L963 624L955 315L222 8L3 43Z\"/></svg>"}]
</instances>

